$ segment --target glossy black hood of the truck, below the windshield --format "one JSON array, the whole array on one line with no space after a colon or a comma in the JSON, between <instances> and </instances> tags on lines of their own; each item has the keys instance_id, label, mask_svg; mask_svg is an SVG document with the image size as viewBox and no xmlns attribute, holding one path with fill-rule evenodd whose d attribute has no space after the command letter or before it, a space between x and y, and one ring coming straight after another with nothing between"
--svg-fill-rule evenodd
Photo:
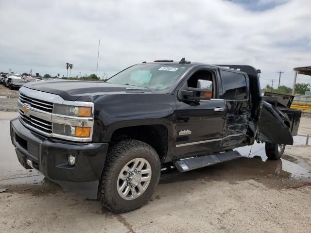
<instances>
[{"instance_id":1,"label":"glossy black hood of the truck, below the windshield","mask_svg":"<svg viewBox=\"0 0 311 233\"><path fill-rule=\"evenodd\" d=\"M75 101L81 96L97 96L109 93L151 92L151 90L132 86L92 81L44 81L26 83L24 87L59 95L64 100Z\"/></svg>"}]
</instances>

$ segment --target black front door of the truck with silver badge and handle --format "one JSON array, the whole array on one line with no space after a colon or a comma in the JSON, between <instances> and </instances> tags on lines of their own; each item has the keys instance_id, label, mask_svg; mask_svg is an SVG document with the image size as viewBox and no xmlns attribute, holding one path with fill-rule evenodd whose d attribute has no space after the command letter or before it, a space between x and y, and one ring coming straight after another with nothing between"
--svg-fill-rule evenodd
<instances>
[{"instance_id":1,"label":"black front door of the truck with silver badge and handle","mask_svg":"<svg viewBox=\"0 0 311 233\"><path fill-rule=\"evenodd\" d=\"M184 100L180 90L197 87L198 81L211 83L211 100ZM196 70L179 89L176 105L176 140L174 156L200 154L219 150L225 122L225 101L217 99L219 80L214 69Z\"/></svg>"}]
</instances>

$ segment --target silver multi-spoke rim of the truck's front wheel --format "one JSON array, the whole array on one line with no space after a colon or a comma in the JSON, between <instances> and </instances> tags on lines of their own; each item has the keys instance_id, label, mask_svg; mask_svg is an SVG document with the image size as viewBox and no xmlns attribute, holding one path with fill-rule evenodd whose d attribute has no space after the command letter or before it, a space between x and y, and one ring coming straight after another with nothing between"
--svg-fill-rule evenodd
<instances>
[{"instance_id":1,"label":"silver multi-spoke rim of the truck's front wheel","mask_svg":"<svg viewBox=\"0 0 311 233\"><path fill-rule=\"evenodd\" d=\"M117 189L120 197L134 200L143 194L151 180L151 166L143 158L132 159L119 173Z\"/></svg>"}]
</instances>

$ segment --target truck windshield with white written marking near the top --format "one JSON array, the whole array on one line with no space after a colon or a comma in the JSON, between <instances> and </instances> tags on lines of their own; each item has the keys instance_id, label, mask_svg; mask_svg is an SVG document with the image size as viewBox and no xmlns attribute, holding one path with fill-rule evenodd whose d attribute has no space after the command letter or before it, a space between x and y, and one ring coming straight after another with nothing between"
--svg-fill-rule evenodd
<instances>
[{"instance_id":1,"label":"truck windshield with white written marking near the top","mask_svg":"<svg viewBox=\"0 0 311 233\"><path fill-rule=\"evenodd\" d=\"M164 90L170 88L186 69L184 66L170 64L139 64L121 71L107 80L107 83Z\"/></svg>"}]
</instances>

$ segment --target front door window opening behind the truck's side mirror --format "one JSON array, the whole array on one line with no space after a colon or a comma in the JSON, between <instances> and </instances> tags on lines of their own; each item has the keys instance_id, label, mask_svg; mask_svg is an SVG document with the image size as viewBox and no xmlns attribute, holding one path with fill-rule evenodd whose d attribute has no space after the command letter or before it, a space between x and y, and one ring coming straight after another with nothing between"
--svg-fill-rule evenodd
<instances>
[{"instance_id":1,"label":"front door window opening behind the truck's side mirror","mask_svg":"<svg viewBox=\"0 0 311 233\"><path fill-rule=\"evenodd\" d=\"M199 70L195 72L187 81L188 87L212 90L212 98L215 98L215 76L212 71ZM199 81L200 80L200 81Z\"/></svg>"}]
</instances>

